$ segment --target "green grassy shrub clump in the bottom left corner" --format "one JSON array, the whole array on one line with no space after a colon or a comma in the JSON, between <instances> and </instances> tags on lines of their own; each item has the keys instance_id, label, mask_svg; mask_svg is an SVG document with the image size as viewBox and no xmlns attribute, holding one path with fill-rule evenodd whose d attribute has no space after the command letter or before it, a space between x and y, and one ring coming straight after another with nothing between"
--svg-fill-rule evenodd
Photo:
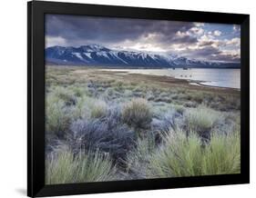
<instances>
[{"instance_id":1,"label":"green grassy shrub clump in the bottom left corner","mask_svg":"<svg viewBox=\"0 0 256 198\"><path fill-rule=\"evenodd\" d=\"M67 147L46 157L46 184L102 182L113 179L115 167L108 155L74 155Z\"/></svg>"}]
</instances>

